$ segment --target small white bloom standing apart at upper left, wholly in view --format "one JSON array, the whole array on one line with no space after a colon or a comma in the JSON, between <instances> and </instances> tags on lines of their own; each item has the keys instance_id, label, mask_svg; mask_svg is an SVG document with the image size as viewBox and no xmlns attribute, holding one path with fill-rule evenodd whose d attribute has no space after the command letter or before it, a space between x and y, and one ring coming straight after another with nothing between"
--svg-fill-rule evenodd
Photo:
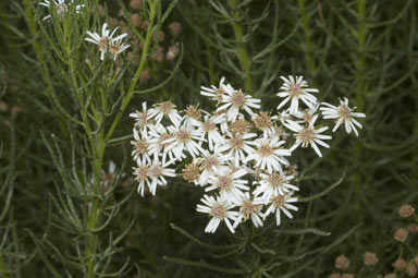
<instances>
[{"instance_id":1,"label":"small white bloom standing apart at upper left, wholly in view","mask_svg":"<svg viewBox=\"0 0 418 278\"><path fill-rule=\"evenodd\" d=\"M104 60L104 56L108 51L112 56L113 60L116 60L118 55L122 53L131 46L122 43L123 38L127 36L127 33L123 33L122 35L113 37L118 28L119 27L114 28L111 33L110 29L108 29L108 24L104 23L101 27L101 35L96 32L91 33L87 31L87 35L89 37L85 38L85 40L96 44L99 47L101 61Z\"/></svg>"}]
</instances>

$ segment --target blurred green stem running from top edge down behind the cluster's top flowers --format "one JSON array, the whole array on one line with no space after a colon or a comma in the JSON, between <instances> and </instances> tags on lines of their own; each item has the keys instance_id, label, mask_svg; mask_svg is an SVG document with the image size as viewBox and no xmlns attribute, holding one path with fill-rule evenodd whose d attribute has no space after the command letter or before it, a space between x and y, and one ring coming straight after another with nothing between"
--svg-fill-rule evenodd
<instances>
[{"instance_id":1,"label":"blurred green stem running from top edge down behind the cluster's top flowers","mask_svg":"<svg viewBox=\"0 0 418 278\"><path fill-rule=\"evenodd\" d=\"M236 46L236 51L238 55L238 60L241 64L241 69L244 72L244 87L247 90L247 93L253 92L253 86L251 86L251 77L249 75L249 59L248 59L248 53L247 50L245 49L244 46L244 32L243 27L239 24L239 13L237 9L237 3L236 0L228 0L228 3L232 8L232 28L234 31L235 39L237 41Z\"/></svg>"}]
</instances>

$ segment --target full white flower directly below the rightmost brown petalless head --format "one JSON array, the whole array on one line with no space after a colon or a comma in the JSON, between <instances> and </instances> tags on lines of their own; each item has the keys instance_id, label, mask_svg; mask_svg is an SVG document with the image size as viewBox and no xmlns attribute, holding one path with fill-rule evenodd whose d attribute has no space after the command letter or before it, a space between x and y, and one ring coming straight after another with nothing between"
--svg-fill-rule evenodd
<instances>
[{"instance_id":1,"label":"full white flower directly below the rightmost brown petalless head","mask_svg":"<svg viewBox=\"0 0 418 278\"><path fill-rule=\"evenodd\" d=\"M282 165L288 165L288 161L283 156L291 156L292 153L288 149L282 148L285 141L280 141L279 136L261 137L251 142L255 146L255 150L250 153L244 162L255 160L255 166L263 169L268 172L281 171Z\"/></svg>"}]
</instances>

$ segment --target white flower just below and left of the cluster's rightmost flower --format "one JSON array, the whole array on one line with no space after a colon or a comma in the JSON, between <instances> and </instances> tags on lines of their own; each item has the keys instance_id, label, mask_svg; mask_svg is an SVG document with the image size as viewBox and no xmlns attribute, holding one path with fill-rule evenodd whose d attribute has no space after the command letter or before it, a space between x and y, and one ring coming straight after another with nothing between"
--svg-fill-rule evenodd
<instances>
[{"instance_id":1,"label":"white flower just below and left of the cluster's rightmost flower","mask_svg":"<svg viewBox=\"0 0 418 278\"><path fill-rule=\"evenodd\" d=\"M299 145L302 145L302 147L307 147L308 145L310 145L314 148L315 153L317 153L319 157L322 157L322 154L319 150L317 144L329 148L330 145L324 143L322 140L331 140L332 136L320 134L327 131L328 126L323 126L318 130L315 129L314 124L317 121L317 119L318 119L318 114L314 116L312 120L308 123L307 126L303 126L295 121L287 121L287 123L284 124L287 129L297 133L296 142L291 147L291 152L293 152Z\"/></svg>"}]
</instances>

